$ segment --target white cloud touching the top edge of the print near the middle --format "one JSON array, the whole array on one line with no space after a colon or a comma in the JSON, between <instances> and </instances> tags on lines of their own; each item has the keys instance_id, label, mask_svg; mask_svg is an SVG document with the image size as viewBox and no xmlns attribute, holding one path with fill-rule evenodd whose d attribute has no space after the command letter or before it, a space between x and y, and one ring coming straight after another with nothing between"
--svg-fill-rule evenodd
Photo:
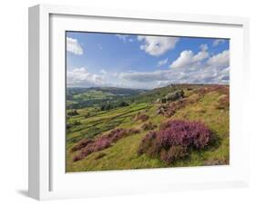
<instances>
[{"instance_id":1,"label":"white cloud touching the top edge of the print near the middle","mask_svg":"<svg viewBox=\"0 0 256 205\"><path fill-rule=\"evenodd\" d=\"M145 51L147 54L159 56L161 54L165 54L170 49L174 49L175 45L179 41L179 38L138 35L138 41L143 43L140 45L141 50Z\"/></svg>"}]
</instances>

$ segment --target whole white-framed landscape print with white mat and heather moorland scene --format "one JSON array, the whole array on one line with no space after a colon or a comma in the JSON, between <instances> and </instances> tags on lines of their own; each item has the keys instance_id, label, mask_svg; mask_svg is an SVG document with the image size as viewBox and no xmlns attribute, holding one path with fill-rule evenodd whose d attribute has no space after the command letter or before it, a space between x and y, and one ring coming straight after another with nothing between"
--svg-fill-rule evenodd
<instances>
[{"instance_id":1,"label":"whole white-framed landscape print with white mat and heather moorland scene","mask_svg":"<svg viewBox=\"0 0 256 205\"><path fill-rule=\"evenodd\" d=\"M29 195L246 186L248 20L29 9Z\"/></svg>"}]
</instances>

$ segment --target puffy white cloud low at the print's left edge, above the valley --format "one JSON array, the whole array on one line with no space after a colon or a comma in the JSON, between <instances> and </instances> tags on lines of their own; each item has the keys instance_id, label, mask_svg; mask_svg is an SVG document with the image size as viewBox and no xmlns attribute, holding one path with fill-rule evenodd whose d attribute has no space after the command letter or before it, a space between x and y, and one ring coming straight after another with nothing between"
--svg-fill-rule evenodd
<instances>
[{"instance_id":1,"label":"puffy white cloud low at the print's left edge, above the valley","mask_svg":"<svg viewBox=\"0 0 256 205\"><path fill-rule=\"evenodd\" d=\"M103 75L88 73L85 67L67 71L67 86L91 87L103 84Z\"/></svg>"}]
</instances>

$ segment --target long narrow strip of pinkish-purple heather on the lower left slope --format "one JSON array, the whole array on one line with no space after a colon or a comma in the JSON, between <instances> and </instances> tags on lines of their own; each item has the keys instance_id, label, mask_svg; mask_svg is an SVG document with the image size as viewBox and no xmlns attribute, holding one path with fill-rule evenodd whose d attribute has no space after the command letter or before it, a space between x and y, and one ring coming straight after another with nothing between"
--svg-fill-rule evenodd
<instances>
[{"instance_id":1,"label":"long narrow strip of pinkish-purple heather on the lower left slope","mask_svg":"<svg viewBox=\"0 0 256 205\"><path fill-rule=\"evenodd\" d=\"M94 140L82 140L71 149L71 151L79 151L73 158L73 161L82 160L93 152L105 150L110 147L113 142L117 142L123 137L137 133L139 133L137 129L118 128Z\"/></svg>"}]
</instances>

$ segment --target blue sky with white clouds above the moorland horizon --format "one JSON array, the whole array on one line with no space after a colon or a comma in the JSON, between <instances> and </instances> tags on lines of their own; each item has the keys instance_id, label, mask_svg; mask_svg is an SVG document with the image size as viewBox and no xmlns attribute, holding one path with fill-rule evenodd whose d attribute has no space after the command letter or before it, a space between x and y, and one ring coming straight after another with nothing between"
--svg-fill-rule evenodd
<instances>
[{"instance_id":1,"label":"blue sky with white clouds above the moorland horizon","mask_svg":"<svg viewBox=\"0 0 256 205\"><path fill-rule=\"evenodd\" d=\"M230 82L230 40L67 32L67 87Z\"/></svg>"}]
</instances>

